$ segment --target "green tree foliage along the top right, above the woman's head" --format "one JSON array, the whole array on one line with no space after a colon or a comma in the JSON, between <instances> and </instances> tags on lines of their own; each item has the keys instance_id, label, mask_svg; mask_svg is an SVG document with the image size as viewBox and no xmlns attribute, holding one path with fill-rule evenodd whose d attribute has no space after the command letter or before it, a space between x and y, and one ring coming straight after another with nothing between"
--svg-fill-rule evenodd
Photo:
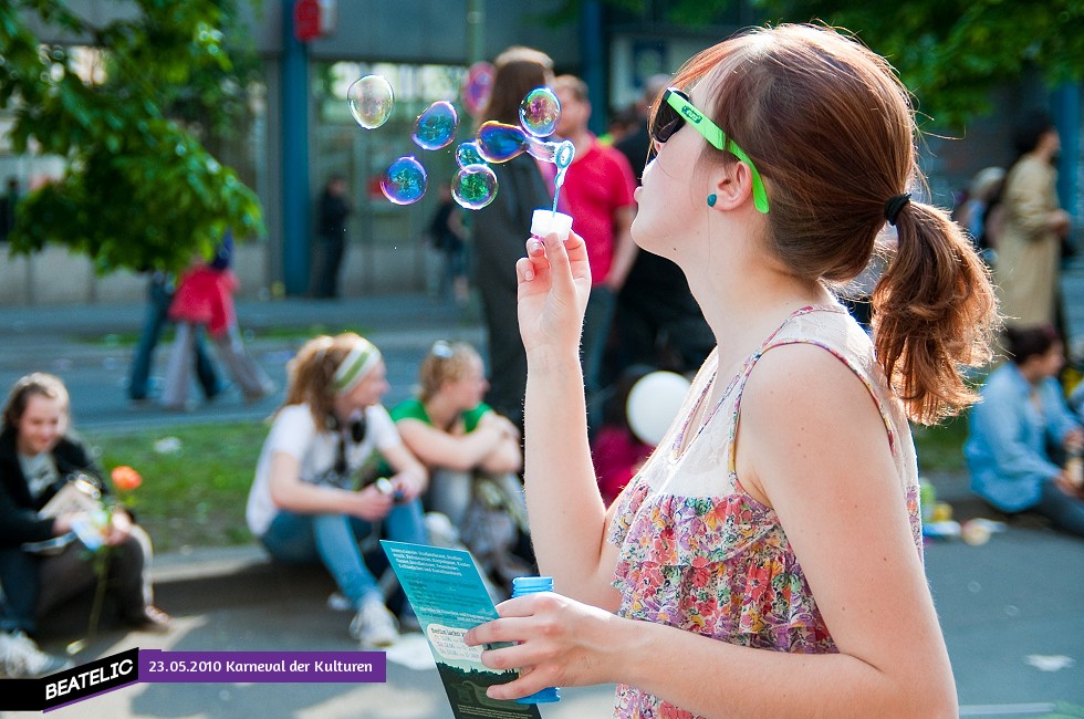
<instances>
[{"instance_id":1,"label":"green tree foliage along the top right, above the woman's head","mask_svg":"<svg viewBox=\"0 0 1084 719\"><path fill-rule=\"evenodd\" d=\"M584 0L569 0L575 7ZM606 0L687 27L733 17L739 0ZM749 0L761 21L846 28L888 58L939 126L987 114L990 90L1038 71L1047 83L1084 77L1082 0ZM742 13L741 17L747 17Z\"/></svg>"}]
</instances>

